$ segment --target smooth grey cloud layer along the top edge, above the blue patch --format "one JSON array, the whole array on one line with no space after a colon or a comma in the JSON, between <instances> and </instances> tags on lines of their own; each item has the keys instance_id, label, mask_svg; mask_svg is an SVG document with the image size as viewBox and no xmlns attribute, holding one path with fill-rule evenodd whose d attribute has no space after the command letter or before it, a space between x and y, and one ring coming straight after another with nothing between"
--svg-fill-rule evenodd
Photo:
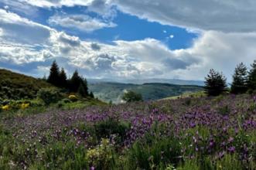
<instances>
[{"instance_id":1,"label":"smooth grey cloud layer along the top edge, above the blue patch","mask_svg":"<svg viewBox=\"0 0 256 170\"><path fill-rule=\"evenodd\" d=\"M221 32L254 32L254 0L18 0L38 7L84 5L101 15L115 5L122 12L164 25Z\"/></svg>"}]
</instances>

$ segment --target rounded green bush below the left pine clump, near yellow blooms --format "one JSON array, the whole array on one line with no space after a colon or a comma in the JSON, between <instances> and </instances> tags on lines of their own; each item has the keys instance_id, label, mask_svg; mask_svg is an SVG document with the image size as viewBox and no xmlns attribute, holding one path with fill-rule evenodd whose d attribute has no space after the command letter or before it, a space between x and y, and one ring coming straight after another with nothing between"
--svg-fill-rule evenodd
<instances>
[{"instance_id":1,"label":"rounded green bush below the left pine clump, near yellow blooms","mask_svg":"<svg viewBox=\"0 0 256 170\"><path fill-rule=\"evenodd\" d=\"M43 100L43 102L46 105L56 103L58 100L60 100L61 95L60 92L53 88L43 88L40 89L37 93L37 97L40 100Z\"/></svg>"}]
</instances>

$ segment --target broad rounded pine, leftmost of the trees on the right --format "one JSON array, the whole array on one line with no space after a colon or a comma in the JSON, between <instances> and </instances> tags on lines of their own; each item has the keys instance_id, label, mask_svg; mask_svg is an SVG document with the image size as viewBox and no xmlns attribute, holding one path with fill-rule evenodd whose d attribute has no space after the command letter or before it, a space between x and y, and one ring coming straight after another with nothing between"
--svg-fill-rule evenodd
<instances>
[{"instance_id":1,"label":"broad rounded pine, leftmost of the trees on the right","mask_svg":"<svg viewBox=\"0 0 256 170\"><path fill-rule=\"evenodd\" d=\"M227 91L227 79L222 73L211 69L205 80L204 90L208 96L217 96Z\"/></svg>"}]
</instances>

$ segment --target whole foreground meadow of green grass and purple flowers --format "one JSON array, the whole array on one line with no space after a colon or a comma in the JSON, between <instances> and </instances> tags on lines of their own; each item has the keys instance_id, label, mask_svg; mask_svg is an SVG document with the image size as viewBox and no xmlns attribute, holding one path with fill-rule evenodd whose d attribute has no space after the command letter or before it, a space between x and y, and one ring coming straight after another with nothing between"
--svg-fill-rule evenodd
<instances>
[{"instance_id":1,"label":"whole foreground meadow of green grass and purple flowers","mask_svg":"<svg viewBox=\"0 0 256 170\"><path fill-rule=\"evenodd\" d=\"M256 169L249 94L28 107L0 117L0 169Z\"/></svg>"}]
</instances>

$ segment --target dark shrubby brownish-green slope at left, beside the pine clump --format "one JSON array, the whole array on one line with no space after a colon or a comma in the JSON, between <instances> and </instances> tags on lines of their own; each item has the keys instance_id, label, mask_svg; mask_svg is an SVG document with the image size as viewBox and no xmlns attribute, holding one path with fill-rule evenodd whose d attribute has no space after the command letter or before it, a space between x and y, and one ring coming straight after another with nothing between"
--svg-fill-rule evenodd
<instances>
[{"instance_id":1,"label":"dark shrubby brownish-green slope at left, beside the pine clump","mask_svg":"<svg viewBox=\"0 0 256 170\"><path fill-rule=\"evenodd\" d=\"M51 87L51 85L32 76L0 69L0 98L2 99L30 99L35 97L37 91L43 87Z\"/></svg>"}]
</instances>

